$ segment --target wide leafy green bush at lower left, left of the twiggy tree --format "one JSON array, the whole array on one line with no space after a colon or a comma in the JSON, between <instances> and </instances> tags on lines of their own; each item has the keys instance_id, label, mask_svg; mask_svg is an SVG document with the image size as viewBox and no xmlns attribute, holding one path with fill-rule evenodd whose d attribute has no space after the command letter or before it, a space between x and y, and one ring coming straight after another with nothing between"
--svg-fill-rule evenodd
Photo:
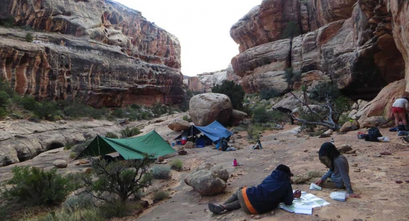
<instances>
[{"instance_id":1,"label":"wide leafy green bush at lower left, left of the twiggy tree","mask_svg":"<svg viewBox=\"0 0 409 221\"><path fill-rule=\"evenodd\" d=\"M11 188L4 192L8 199L17 198L32 205L53 205L63 202L73 191L70 179L58 174L55 168L45 171L34 166L15 166L11 171L13 178L7 181Z\"/></svg>"}]
</instances>

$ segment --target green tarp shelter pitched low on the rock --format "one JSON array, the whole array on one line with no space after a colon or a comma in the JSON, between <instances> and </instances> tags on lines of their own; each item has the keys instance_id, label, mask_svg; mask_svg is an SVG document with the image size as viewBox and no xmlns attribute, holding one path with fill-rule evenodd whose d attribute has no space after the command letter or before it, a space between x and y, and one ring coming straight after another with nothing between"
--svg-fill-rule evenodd
<instances>
[{"instance_id":1,"label":"green tarp shelter pitched low on the rock","mask_svg":"<svg viewBox=\"0 0 409 221\"><path fill-rule=\"evenodd\" d=\"M125 160L143 159L152 155L151 159L176 151L155 131L137 138L113 139L97 136L76 158L87 158L118 152Z\"/></svg>"}]
</instances>

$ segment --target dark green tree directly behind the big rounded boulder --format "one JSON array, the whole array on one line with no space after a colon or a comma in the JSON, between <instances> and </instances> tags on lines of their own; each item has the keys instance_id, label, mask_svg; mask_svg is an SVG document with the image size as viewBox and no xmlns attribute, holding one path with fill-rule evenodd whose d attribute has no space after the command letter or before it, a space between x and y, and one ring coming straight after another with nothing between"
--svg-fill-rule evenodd
<instances>
[{"instance_id":1,"label":"dark green tree directly behind the big rounded boulder","mask_svg":"<svg viewBox=\"0 0 409 221\"><path fill-rule=\"evenodd\" d=\"M221 84L214 86L212 92L227 95L231 100L233 109L243 109L245 92L242 85L236 84L233 81L223 81Z\"/></svg>"}]
</instances>

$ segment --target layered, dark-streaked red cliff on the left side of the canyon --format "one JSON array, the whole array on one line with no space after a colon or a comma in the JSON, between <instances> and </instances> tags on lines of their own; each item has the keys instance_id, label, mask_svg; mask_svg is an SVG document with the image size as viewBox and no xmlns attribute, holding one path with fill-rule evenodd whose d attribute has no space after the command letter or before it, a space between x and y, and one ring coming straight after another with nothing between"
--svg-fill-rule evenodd
<instances>
[{"instance_id":1,"label":"layered, dark-streaked red cliff on the left side of the canyon","mask_svg":"<svg viewBox=\"0 0 409 221\"><path fill-rule=\"evenodd\" d=\"M1 19L42 31L30 31L29 43L26 31L0 29L0 75L19 94L78 97L94 107L182 99L179 41L140 12L110 0L2 5Z\"/></svg>"}]
</instances>

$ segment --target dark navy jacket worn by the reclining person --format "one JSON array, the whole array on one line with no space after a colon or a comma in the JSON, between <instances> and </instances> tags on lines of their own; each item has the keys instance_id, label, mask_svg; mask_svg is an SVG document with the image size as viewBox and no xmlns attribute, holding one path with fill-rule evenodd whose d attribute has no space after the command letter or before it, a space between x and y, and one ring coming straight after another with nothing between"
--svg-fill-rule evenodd
<instances>
[{"instance_id":1,"label":"dark navy jacket worn by the reclining person","mask_svg":"<svg viewBox=\"0 0 409 221\"><path fill-rule=\"evenodd\" d=\"M257 187L247 188L246 194L259 214L273 210L281 202L291 205L294 200L290 178L280 170L274 170Z\"/></svg>"}]
</instances>

